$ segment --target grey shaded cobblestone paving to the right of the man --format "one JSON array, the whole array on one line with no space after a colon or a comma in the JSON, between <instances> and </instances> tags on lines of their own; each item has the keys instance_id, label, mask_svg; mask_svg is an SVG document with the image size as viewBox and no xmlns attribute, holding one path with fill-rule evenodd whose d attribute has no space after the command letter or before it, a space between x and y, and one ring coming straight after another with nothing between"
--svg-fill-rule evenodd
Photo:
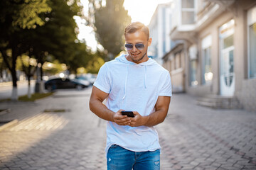
<instances>
[{"instance_id":1,"label":"grey shaded cobblestone paving to the right of the man","mask_svg":"<svg viewBox=\"0 0 256 170\"><path fill-rule=\"evenodd\" d=\"M174 96L158 127L161 169L255 170L255 122L255 113L203 108L193 98Z\"/></svg>"}]
</instances>

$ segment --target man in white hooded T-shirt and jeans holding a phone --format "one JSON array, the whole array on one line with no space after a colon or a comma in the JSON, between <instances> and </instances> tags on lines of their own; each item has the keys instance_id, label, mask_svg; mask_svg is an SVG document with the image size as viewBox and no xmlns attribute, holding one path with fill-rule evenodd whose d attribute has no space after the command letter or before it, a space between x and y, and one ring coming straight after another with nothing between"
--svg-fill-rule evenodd
<instances>
[{"instance_id":1,"label":"man in white hooded T-shirt and jeans holding a phone","mask_svg":"<svg viewBox=\"0 0 256 170\"><path fill-rule=\"evenodd\" d=\"M128 55L106 62L97 75L90 110L107 120L107 169L160 169L154 128L166 118L171 101L169 72L148 57L149 28L130 23L124 30ZM105 99L106 106L102 103ZM134 117L122 115L132 111Z\"/></svg>"}]
</instances>

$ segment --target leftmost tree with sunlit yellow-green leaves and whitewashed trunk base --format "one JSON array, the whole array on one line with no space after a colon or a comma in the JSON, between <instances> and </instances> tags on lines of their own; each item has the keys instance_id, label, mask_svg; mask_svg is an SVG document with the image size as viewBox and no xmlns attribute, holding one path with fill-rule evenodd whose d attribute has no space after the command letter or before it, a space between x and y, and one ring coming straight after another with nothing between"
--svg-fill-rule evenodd
<instances>
[{"instance_id":1,"label":"leftmost tree with sunlit yellow-green leaves and whitewashed trunk base","mask_svg":"<svg viewBox=\"0 0 256 170\"><path fill-rule=\"evenodd\" d=\"M23 54L23 29L42 26L41 13L50 12L46 0L10 0L0 1L0 52L9 68L13 82L11 99L18 100L16 60ZM11 52L8 52L11 50ZM9 59L11 58L11 62Z\"/></svg>"}]
</instances>

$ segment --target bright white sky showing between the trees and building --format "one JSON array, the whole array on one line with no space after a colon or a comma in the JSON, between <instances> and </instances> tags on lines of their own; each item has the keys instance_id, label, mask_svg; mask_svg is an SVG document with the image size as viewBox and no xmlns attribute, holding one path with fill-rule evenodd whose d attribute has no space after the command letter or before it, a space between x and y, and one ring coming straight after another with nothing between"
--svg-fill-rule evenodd
<instances>
[{"instance_id":1,"label":"bright white sky showing between the trees and building","mask_svg":"<svg viewBox=\"0 0 256 170\"><path fill-rule=\"evenodd\" d=\"M85 13L87 12L87 0L80 0L83 4ZM124 0L124 8L128 11L128 15L131 16L132 22L139 21L146 26L149 25L151 17L156 10L158 4L163 4L171 0ZM75 21L78 23L79 35L78 39L85 39L87 45L92 50L97 49L97 41L95 40L95 34L92 28L85 26L85 21L82 21L79 17L75 17Z\"/></svg>"}]
</instances>

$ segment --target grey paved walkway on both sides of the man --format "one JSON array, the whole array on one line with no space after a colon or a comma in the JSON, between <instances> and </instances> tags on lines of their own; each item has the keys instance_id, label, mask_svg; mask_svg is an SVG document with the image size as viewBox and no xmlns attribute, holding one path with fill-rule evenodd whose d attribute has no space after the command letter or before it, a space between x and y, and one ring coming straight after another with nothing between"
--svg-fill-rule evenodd
<instances>
[{"instance_id":1,"label":"grey paved walkway on both sides of the man","mask_svg":"<svg viewBox=\"0 0 256 170\"><path fill-rule=\"evenodd\" d=\"M36 102L1 102L1 170L107 169L105 120L89 109L91 88L56 91ZM256 169L256 113L215 110L173 94L169 114L156 126L161 170Z\"/></svg>"}]
</instances>

